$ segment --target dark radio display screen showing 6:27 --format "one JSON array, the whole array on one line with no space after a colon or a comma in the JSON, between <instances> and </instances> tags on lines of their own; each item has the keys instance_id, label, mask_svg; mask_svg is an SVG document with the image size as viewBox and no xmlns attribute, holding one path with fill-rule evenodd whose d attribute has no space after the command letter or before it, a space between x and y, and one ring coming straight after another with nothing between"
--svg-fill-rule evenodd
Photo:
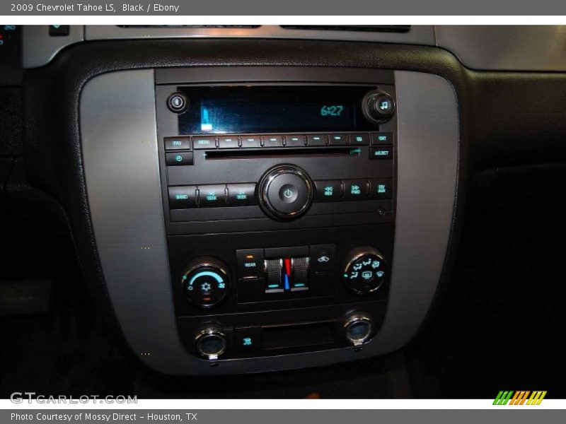
<instances>
[{"instance_id":1,"label":"dark radio display screen showing 6:27","mask_svg":"<svg viewBox=\"0 0 566 424\"><path fill-rule=\"evenodd\" d=\"M375 86L183 87L179 134L364 131L362 99Z\"/></svg>"}]
</instances>

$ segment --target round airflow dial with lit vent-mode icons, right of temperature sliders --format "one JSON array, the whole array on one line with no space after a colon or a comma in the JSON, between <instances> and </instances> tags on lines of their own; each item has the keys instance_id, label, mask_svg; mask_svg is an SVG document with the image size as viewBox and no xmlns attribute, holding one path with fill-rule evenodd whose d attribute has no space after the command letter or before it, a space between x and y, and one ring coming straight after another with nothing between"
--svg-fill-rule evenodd
<instances>
[{"instance_id":1,"label":"round airflow dial with lit vent-mode icons, right of temperature sliders","mask_svg":"<svg viewBox=\"0 0 566 424\"><path fill-rule=\"evenodd\" d=\"M379 250L358 247L348 254L348 258L342 278L352 292L369 295L381 288L387 275L387 264Z\"/></svg>"}]
</instances>

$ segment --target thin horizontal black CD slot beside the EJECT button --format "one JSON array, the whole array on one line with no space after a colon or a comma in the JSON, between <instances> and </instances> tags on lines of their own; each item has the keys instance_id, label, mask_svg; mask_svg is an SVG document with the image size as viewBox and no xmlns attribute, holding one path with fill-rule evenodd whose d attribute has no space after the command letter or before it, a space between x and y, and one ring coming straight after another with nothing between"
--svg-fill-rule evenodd
<instances>
[{"instance_id":1,"label":"thin horizontal black CD slot beside the EJECT button","mask_svg":"<svg viewBox=\"0 0 566 424\"><path fill-rule=\"evenodd\" d=\"M270 148L245 150L214 150L206 151L207 160L235 159L235 158L289 158L306 156L359 156L362 148L359 147L316 147L316 148Z\"/></svg>"}]
</instances>

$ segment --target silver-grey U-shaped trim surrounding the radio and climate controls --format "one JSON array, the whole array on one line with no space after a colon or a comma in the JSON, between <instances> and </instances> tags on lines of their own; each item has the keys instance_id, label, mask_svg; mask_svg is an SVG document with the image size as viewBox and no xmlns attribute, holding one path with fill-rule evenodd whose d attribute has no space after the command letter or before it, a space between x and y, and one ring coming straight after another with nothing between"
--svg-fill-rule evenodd
<instances>
[{"instance_id":1,"label":"silver-grey U-shaped trim surrounding the radio and climate controls","mask_svg":"<svg viewBox=\"0 0 566 424\"><path fill-rule=\"evenodd\" d=\"M309 367L366 358L410 341L436 293L454 212L458 112L439 76L395 71L398 196L385 322L362 351L219 361L195 358L175 326L158 167L154 71L106 73L81 95L81 144L96 247L125 338L147 365L179 375Z\"/></svg>"}]
</instances>

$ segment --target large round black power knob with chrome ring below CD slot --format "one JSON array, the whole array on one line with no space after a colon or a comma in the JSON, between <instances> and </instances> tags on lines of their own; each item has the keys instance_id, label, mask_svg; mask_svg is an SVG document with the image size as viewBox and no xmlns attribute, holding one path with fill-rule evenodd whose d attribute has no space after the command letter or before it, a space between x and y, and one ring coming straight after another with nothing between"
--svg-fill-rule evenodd
<instances>
[{"instance_id":1,"label":"large round black power knob with chrome ring below CD slot","mask_svg":"<svg viewBox=\"0 0 566 424\"><path fill-rule=\"evenodd\" d=\"M260 205L279 220L299 218L313 200L313 182L295 165L277 165L260 179Z\"/></svg>"}]
</instances>

